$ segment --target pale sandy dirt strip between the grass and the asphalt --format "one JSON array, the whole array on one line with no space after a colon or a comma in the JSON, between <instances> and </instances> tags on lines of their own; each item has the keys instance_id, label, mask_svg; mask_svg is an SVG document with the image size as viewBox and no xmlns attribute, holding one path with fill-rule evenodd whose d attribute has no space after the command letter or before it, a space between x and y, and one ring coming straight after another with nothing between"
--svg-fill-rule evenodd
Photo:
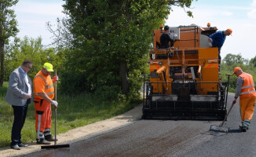
<instances>
[{"instance_id":1,"label":"pale sandy dirt strip between the grass and the asphalt","mask_svg":"<svg viewBox=\"0 0 256 157\"><path fill-rule=\"evenodd\" d=\"M82 141L86 136L93 135L93 133L101 133L103 131L111 130L115 127L124 126L130 122L141 119L142 104L136 108L126 112L123 115L118 115L112 119L106 119L101 122L95 122L88 126L82 126L74 130L69 130L66 133L57 134L57 144L71 144L76 141ZM54 144L54 142L52 142ZM31 152L38 152L41 150L42 145L35 144L35 141L29 143L27 148L21 148L21 150L13 150L11 148L0 148L1 156L16 156L24 155Z\"/></svg>"}]
</instances>

